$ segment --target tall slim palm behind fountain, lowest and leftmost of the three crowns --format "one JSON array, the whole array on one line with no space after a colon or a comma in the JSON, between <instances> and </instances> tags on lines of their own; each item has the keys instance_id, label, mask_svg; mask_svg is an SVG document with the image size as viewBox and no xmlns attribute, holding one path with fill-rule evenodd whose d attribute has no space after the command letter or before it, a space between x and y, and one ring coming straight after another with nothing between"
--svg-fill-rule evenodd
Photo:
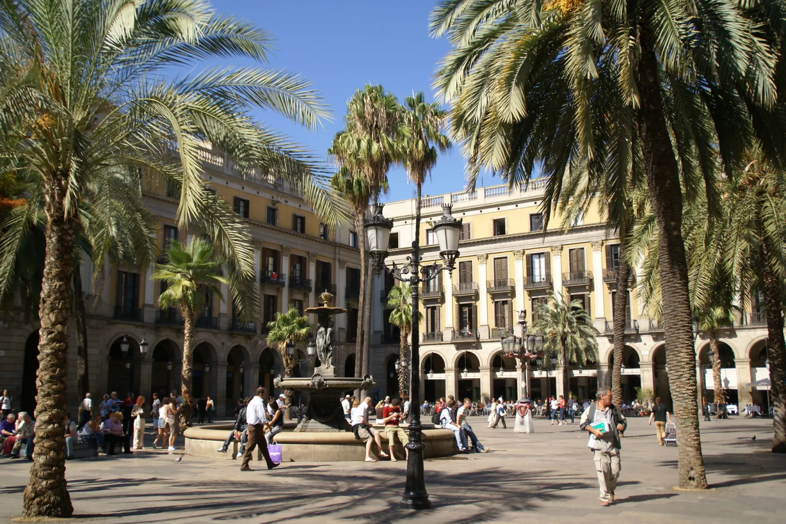
<instances>
[{"instance_id":1,"label":"tall slim palm behind fountain, lowest and leftmost of the three crowns","mask_svg":"<svg viewBox=\"0 0 786 524\"><path fill-rule=\"evenodd\" d=\"M328 150L328 153L336 157L338 163L342 164L338 172L333 175L330 180L330 185L344 201L347 202L352 211L354 219L354 231L358 238L358 249L360 249L360 293L358 294L358 312L365 311L365 288L366 288L366 275L368 274L368 260L365 256L365 232L363 229L363 220L365 219L365 210L369 207L369 198L371 197L371 185L361 175L353 174L350 168L347 167L354 158L351 150L352 142L344 138L345 131L340 131L336 138L333 138L333 144ZM363 370L363 329L364 329L364 315L358 315L357 338L355 340L354 349L354 376L362 377Z\"/></svg>"}]
</instances>

